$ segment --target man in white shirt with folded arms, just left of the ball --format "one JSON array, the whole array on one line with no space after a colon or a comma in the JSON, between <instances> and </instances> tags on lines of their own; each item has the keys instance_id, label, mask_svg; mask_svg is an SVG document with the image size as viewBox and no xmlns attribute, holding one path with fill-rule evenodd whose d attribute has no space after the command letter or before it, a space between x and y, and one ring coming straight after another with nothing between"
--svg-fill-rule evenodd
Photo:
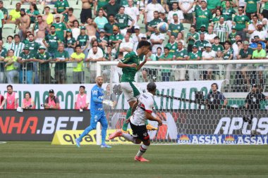
<instances>
[{"instance_id":1,"label":"man in white shirt with folded arms, just left of the ball","mask_svg":"<svg viewBox=\"0 0 268 178\"><path fill-rule=\"evenodd\" d=\"M164 34L158 32L157 27L154 27L154 34L150 37L150 42L152 44L152 53L157 53L157 48L160 47L162 49L162 53L164 52Z\"/></svg>"}]
</instances>

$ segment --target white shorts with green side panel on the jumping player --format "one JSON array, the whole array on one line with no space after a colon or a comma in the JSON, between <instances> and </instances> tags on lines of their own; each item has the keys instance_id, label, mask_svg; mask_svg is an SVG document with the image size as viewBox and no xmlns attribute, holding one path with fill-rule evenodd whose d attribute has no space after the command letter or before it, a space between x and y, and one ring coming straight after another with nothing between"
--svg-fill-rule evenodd
<instances>
[{"instance_id":1,"label":"white shorts with green side panel on the jumping player","mask_svg":"<svg viewBox=\"0 0 268 178\"><path fill-rule=\"evenodd\" d=\"M137 99L140 97L140 94L142 94L142 91L136 82L121 82L120 85L128 102L137 101Z\"/></svg>"}]
</instances>

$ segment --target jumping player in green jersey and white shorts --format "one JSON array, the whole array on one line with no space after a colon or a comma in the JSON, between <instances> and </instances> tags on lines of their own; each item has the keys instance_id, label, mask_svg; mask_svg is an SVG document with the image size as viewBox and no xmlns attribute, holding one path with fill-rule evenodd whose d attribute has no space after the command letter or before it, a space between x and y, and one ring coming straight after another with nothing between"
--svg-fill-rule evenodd
<instances>
[{"instance_id":1,"label":"jumping player in green jersey and white shorts","mask_svg":"<svg viewBox=\"0 0 268 178\"><path fill-rule=\"evenodd\" d=\"M134 104L137 102L137 99L140 96L140 91L138 87L136 87L134 78L136 72L138 72L140 68L142 68L142 66L145 65L145 63L147 62L146 55L150 51L150 47L150 42L139 42L137 51L131 51L130 53L127 53L126 56L121 61L119 61L117 65L118 68L122 68L123 71L120 84L123 94L126 97L126 100L128 101L128 104L130 106L128 112L126 113L126 120L123 122L123 132L126 132L128 129L128 118L132 113L132 108ZM140 58L144 55L146 56L145 60L140 63ZM152 127L152 125L148 125L148 122L146 122L146 125L147 129L149 130L156 129Z\"/></svg>"}]
</instances>

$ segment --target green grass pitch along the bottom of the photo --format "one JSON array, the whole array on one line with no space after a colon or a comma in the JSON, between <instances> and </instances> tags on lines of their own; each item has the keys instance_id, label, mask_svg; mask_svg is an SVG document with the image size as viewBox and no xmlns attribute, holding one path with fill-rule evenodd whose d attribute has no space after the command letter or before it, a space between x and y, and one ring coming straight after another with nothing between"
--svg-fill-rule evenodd
<instances>
[{"instance_id":1,"label":"green grass pitch along the bottom of the photo","mask_svg":"<svg viewBox=\"0 0 268 178\"><path fill-rule=\"evenodd\" d=\"M0 177L268 177L267 146L152 145L150 163L133 160L138 148L8 141L0 144Z\"/></svg>"}]
</instances>

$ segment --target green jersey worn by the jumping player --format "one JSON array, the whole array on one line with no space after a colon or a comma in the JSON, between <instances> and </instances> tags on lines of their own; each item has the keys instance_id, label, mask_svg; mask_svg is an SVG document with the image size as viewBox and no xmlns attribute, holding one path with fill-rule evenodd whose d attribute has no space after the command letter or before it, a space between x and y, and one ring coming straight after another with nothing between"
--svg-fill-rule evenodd
<instances>
[{"instance_id":1,"label":"green jersey worn by the jumping player","mask_svg":"<svg viewBox=\"0 0 268 178\"><path fill-rule=\"evenodd\" d=\"M120 61L124 64L137 64L136 68L123 68L123 75L120 82L135 82L135 75L138 72L138 66L140 65L140 57L137 56L137 53L131 51L127 53L126 56Z\"/></svg>"}]
</instances>

